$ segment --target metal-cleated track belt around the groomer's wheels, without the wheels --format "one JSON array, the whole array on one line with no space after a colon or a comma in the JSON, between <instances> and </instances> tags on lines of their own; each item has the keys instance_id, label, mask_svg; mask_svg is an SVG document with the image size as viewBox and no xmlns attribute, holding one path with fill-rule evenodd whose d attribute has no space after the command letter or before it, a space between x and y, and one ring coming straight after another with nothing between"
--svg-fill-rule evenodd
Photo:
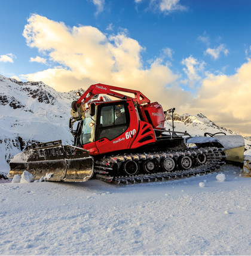
<instances>
[{"instance_id":1,"label":"metal-cleated track belt around the groomer's wheels, without the wheels","mask_svg":"<svg viewBox=\"0 0 251 256\"><path fill-rule=\"evenodd\" d=\"M210 172L215 172L220 169L222 164L225 163L224 156L222 156L221 148L199 148L195 150L185 151L167 151L161 153L149 153L149 154L124 154L118 156L104 157L100 161L96 161L94 164L94 170L101 172L103 170L111 169L111 163L117 163L118 161L125 160L146 160L146 159L158 159L172 156L196 156L197 154L206 153L207 162L200 166L188 169L188 170L176 170L174 172L158 172L152 174L140 174L136 176L107 176L105 174L97 174L96 178L102 181L113 184L135 184L143 182L156 182L165 181L170 179L187 178L189 176L203 175ZM145 157L144 157L144 156ZM166 155L166 156L165 156Z\"/></svg>"}]
</instances>

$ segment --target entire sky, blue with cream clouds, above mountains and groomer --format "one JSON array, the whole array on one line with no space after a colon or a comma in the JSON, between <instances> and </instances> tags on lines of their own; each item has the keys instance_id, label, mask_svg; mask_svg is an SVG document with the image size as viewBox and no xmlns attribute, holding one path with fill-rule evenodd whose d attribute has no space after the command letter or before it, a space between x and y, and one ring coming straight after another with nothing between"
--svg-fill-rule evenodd
<instances>
[{"instance_id":1,"label":"entire sky, blue with cream clouds, above mountains and groomer","mask_svg":"<svg viewBox=\"0 0 251 256\"><path fill-rule=\"evenodd\" d=\"M0 74L140 90L251 135L251 1L0 0Z\"/></svg>"}]
</instances>

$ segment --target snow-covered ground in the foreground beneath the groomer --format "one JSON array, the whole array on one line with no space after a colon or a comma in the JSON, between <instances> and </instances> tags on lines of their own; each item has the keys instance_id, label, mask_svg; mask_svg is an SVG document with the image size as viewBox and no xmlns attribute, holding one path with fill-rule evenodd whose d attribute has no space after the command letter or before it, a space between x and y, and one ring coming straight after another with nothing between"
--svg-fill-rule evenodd
<instances>
[{"instance_id":1,"label":"snow-covered ground in the foreground beneath the groomer","mask_svg":"<svg viewBox=\"0 0 251 256\"><path fill-rule=\"evenodd\" d=\"M250 255L251 179L221 172L223 182L0 184L0 254Z\"/></svg>"}]
</instances>

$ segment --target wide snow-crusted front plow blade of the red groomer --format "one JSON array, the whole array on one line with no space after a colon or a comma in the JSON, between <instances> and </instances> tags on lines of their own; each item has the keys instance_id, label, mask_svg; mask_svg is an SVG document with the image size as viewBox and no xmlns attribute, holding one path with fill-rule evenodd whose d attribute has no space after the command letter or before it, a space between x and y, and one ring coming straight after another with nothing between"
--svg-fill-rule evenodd
<instances>
[{"instance_id":1,"label":"wide snow-crusted front plow blade of the red groomer","mask_svg":"<svg viewBox=\"0 0 251 256\"><path fill-rule=\"evenodd\" d=\"M34 179L46 176L50 181L87 181L93 175L93 158L83 148L62 145L62 141L45 142L30 145L14 156L8 177L24 170Z\"/></svg>"}]
</instances>

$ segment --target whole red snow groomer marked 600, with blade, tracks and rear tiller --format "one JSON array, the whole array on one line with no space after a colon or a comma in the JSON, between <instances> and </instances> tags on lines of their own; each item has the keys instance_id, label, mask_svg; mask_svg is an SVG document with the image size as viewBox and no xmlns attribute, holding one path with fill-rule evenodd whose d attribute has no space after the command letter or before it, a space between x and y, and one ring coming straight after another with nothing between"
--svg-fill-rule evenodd
<instances>
[{"instance_id":1,"label":"whole red snow groomer marked 600, with blade, tracks and rear tiller","mask_svg":"<svg viewBox=\"0 0 251 256\"><path fill-rule=\"evenodd\" d=\"M99 95L117 100L104 101ZM137 90L93 84L79 96L72 102L69 122L74 146L53 141L27 147L11 159L11 178L27 170L35 179L47 176L50 181L87 181L94 175L106 182L134 183L212 172L225 161L243 162L241 136L191 137L166 130L167 112Z\"/></svg>"}]
</instances>

